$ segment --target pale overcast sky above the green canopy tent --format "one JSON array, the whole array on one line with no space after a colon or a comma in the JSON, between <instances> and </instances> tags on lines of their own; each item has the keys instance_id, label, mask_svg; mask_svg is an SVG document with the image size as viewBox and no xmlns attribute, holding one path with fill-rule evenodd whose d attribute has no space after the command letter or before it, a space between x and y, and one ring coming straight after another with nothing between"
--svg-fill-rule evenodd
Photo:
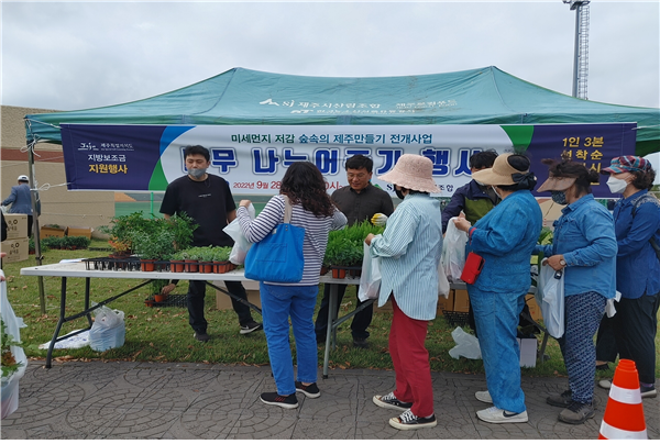
<instances>
[{"instance_id":1,"label":"pale overcast sky above the green canopy tent","mask_svg":"<svg viewBox=\"0 0 660 444\"><path fill-rule=\"evenodd\" d=\"M2 1L1 8L8 106L107 107L234 67L382 77L496 66L572 92L575 11L561 0ZM660 2L594 0L588 11L588 100L660 108Z\"/></svg>"}]
</instances>

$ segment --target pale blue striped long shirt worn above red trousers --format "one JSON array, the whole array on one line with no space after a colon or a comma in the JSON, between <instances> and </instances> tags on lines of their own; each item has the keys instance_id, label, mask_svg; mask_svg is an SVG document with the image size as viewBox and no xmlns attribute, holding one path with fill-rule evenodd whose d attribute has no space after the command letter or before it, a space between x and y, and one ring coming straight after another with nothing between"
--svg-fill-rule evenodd
<instances>
[{"instance_id":1,"label":"pale blue striped long shirt worn above red trousers","mask_svg":"<svg viewBox=\"0 0 660 444\"><path fill-rule=\"evenodd\" d=\"M440 202L427 195L406 196L387 220L385 232L372 240L370 251L381 257L378 307L394 292L408 318L435 319L442 253Z\"/></svg>"}]
</instances>

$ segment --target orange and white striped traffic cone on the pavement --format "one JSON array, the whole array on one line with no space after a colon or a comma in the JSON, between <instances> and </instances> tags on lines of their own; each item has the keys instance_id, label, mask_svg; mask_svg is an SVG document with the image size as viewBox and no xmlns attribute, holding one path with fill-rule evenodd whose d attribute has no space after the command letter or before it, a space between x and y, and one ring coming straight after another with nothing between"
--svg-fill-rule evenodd
<instances>
[{"instance_id":1,"label":"orange and white striped traffic cone on the pavement","mask_svg":"<svg viewBox=\"0 0 660 444\"><path fill-rule=\"evenodd\" d=\"M648 440L639 375L630 359L620 359L614 371L598 440Z\"/></svg>"}]
</instances>

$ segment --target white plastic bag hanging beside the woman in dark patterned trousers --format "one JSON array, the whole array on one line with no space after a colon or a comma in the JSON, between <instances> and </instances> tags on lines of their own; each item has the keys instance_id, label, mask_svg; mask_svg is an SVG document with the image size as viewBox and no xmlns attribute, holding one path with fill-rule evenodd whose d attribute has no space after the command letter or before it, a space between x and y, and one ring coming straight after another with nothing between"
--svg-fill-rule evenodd
<instances>
[{"instance_id":1,"label":"white plastic bag hanging beside the woman in dark patterned trousers","mask_svg":"<svg viewBox=\"0 0 660 444\"><path fill-rule=\"evenodd\" d=\"M564 274L558 273L549 265L541 265L539 287L541 314L548 333L552 337L561 337L564 333Z\"/></svg>"}]
</instances>

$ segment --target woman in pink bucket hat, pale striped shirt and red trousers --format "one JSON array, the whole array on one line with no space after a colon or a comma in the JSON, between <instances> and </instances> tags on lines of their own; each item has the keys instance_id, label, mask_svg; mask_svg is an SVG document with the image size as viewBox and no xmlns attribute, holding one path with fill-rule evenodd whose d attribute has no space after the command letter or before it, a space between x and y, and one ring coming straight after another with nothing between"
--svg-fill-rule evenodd
<instances>
[{"instance_id":1,"label":"woman in pink bucket hat, pale striped shirt and red trousers","mask_svg":"<svg viewBox=\"0 0 660 444\"><path fill-rule=\"evenodd\" d=\"M381 257L378 307L392 300L389 355L396 389L376 395L373 401L403 413L389 420L399 430L437 425L429 353L425 347L427 328L436 318L438 264L442 253L440 203L429 195L440 192L430 159L404 154L395 167L378 177L395 186L404 201L387 220L383 234L370 234L371 254Z\"/></svg>"}]
</instances>

